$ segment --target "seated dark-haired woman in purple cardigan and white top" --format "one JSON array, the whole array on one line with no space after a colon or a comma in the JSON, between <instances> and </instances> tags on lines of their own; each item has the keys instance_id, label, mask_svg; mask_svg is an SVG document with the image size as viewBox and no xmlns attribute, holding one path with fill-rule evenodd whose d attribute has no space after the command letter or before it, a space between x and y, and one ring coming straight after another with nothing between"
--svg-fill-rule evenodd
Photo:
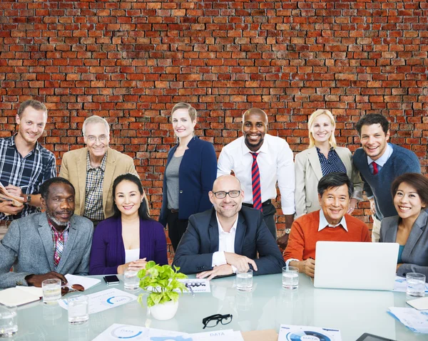
<instances>
[{"instance_id":1,"label":"seated dark-haired woman in purple cardigan and white top","mask_svg":"<svg viewBox=\"0 0 428 341\"><path fill-rule=\"evenodd\" d=\"M163 226L151 219L141 181L134 174L119 175L113 182L111 218L93 233L91 275L138 271L148 261L168 264Z\"/></svg>"}]
</instances>

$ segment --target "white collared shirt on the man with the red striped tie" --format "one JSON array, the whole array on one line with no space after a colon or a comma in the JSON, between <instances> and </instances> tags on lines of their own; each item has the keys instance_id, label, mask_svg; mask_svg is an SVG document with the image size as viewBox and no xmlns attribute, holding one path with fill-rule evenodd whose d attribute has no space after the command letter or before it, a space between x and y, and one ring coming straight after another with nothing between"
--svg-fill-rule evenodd
<instances>
[{"instance_id":1,"label":"white collared shirt on the man with the red striped tie","mask_svg":"<svg viewBox=\"0 0 428 341\"><path fill-rule=\"evenodd\" d=\"M276 198L278 184L282 214L294 214L295 170L290 147L284 139L265 134L263 145L257 152L262 202ZM253 204L252 164L253 156L245 145L245 137L239 137L223 147L218 158L217 177L233 171L244 190L245 204Z\"/></svg>"}]
</instances>

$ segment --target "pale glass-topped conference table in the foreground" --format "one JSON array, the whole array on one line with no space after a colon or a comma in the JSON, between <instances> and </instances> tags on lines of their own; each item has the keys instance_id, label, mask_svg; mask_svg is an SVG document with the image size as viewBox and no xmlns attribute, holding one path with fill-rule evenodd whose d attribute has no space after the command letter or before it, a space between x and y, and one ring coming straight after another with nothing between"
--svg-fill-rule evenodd
<instances>
[{"instance_id":1,"label":"pale glass-topped conference table in the foreground","mask_svg":"<svg viewBox=\"0 0 428 341\"><path fill-rule=\"evenodd\" d=\"M108 288L123 290L122 278L120 284L113 286L101 280L85 293ZM73 293L67 296L70 295ZM428 335L410 331L387 313L389 307L409 307L405 301L405 293L317 289L303 274L297 290L283 289L281 275L277 274L255 276L253 290L246 293L236 290L235 278L228 277L212 280L211 293L195 293L195 297L190 293L181 295L178 313L168 321L154 320L147 314L147 308L136 301L91 314L89 321L79 326L69 325L67 311L58 305L52 307L41 301L23 305L18 310L19 331L13 340L92 340L113 323L203 332L208 328L203 330L202 319L215 313L232 314L233 321L209 330L277 332L281 324L287 324L337 328L344 341L356 340L364 332L392 340L428 340Z\"/></svg>"}]
</instances>

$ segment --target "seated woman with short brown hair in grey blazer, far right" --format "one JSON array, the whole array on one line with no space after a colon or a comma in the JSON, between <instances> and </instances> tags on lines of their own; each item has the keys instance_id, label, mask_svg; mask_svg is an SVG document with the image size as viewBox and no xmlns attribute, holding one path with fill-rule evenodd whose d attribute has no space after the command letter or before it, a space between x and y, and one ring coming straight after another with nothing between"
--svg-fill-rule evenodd
<instances>
[{"instance_id":1,"label":"seated woman with short brown hair in grey blazer, far right","mask_svg":"<svg viewBox=\"0 0 428 341\"><path fill-rule=\"evenodd\" d=\"M424 273L428 279L428 179L405 173L391 185L398 216L382 219L380 240L399 243L397 275Z\"/></svg>"}]
</instances>

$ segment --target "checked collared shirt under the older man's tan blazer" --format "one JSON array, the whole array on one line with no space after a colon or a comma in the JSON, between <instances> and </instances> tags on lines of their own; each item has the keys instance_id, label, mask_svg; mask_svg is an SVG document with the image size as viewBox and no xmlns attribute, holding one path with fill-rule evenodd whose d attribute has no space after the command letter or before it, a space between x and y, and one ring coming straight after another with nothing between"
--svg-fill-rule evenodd
<instances>
[{"instance_id":1,"label":"checked collared shirt under the older man's tan blazer","mask_svg":"<svg viewBox=\"0 0 428 341\"><path fill-rule=\"evenodd\" d=\"M91 167L89 152L86 156L86 199L83 216L93 220L103 220L103 181L106 172L107 153L101 161L101 166Z\"/></svg>"}]
</instances>

